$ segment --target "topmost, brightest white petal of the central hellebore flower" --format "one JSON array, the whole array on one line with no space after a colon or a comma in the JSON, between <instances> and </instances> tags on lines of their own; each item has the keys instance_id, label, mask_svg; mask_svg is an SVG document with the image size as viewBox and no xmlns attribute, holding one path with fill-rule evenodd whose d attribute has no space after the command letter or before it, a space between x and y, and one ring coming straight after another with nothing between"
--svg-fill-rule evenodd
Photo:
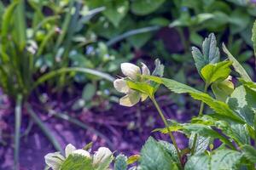
<instances>
[{"instance_id":1,"label":"topmost, brightest white petal of the central hellebore flower","mask_svg":"<svg viewBox=\"0 0 256 170\"><path fill-rule=\"evenodd\" d=\"M133 80L137 79L137 74L141 74L140 68L131 63L122 63L121 70L126 77L130 77Z\"/></svg>"}]
</instances>

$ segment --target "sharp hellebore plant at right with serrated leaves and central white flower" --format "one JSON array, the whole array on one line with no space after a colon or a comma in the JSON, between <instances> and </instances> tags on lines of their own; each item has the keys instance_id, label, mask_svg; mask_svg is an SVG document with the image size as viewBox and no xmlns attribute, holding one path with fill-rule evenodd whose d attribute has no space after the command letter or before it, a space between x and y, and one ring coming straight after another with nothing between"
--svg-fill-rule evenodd
<instances>
[{"instance_id":1,"label":"sharp hellebore plant at right with serrated leaves and central white flower","mask_svg":"<svg viewBox=\"0 0 256 170\"><path fill-rule=\"evenodd\" d=\"M253 35L255 31L253 29ZM256 43L254 37L253 43ZM220 61L214 34L205 39L201 49L192 48L196 69L205 82L203 92L161 77L164 68L159 60L155 62L152 76L144 64L142 69L129 63L121 65L125 77L113 82L119 92L126 94L119 100L120 105L132 106L139 100L151 99L165 125L163 128L154 129L154 132L169 134L172 143L150 137L139 156L117 156L115 170L125 170L128 166L131 166L131 169L143 170L255 169L256 150L251 141L255 141L256 134L256 83L224 44L223 50L228 59ZM236 84L230 80L231 65L238 73ZM193 99L200 100L198 115L186 123L166 120L154 98L161 84L172 93L189 94ZM209 88L213 94L209 92ZM205 105L212 109L211 113L204 112ZM173 132L187 135L189 146L180 150ZM222 144L214 145L215 139L220 140ZM137 165L134 166L135 162Z\"/></svg>"}]
</instances>

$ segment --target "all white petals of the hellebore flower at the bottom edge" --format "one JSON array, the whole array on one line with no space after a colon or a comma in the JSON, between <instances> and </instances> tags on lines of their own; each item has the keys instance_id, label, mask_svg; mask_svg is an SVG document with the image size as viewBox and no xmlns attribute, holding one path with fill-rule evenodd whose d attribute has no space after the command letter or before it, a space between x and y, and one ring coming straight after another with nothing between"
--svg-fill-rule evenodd
<instances>
[{"instance_id":1,"label":"all white petals of the hellebore flower at the bottom edge","mask_svg":"<svg viewBox=\"0 0 256 170\"><path fill-rule=\"evenodd\" d=\"M62 163L70 155L80 155L92 159L93 165L99 165L112 156L112 152L106 147L100 147L93 156L90 156L90 152L87 150L77 150L73 144L67 144L65 148L65 156L62 156L60 152L49 153L44 156L45 163L53 170L60 170Z\"/></svg>"}]
</instances>

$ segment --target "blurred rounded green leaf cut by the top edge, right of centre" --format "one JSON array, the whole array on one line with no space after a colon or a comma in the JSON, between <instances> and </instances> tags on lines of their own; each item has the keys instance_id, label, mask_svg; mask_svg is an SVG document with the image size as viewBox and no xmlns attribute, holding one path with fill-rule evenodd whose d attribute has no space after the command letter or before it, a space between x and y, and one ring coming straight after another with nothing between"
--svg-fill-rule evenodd
<instances>
[{"instance_id":1,"label":"blurred rounded green leaf cut by the top edge, right of centre","mask_svg":"<svg viewBox=\"0 0 256 170\"><path fill-rule=\"evenodd\" d=\"M132 1L131 11L137 15L146 15L153 13L157 8L160 8L162 3L165 3L166 0L147 0L147 1Z\"/></svg>"}]
</instances>

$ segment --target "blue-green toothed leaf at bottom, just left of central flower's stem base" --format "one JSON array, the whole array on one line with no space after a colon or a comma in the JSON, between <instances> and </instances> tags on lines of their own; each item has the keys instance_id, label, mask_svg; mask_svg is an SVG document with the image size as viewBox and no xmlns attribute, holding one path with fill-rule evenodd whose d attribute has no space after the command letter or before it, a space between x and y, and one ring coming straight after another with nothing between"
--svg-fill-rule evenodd
<instances>
[{"instance_id":1,"label":"blue-green toothed leaf at bottom, just left of central flower's stem base","mask_svg":"<svg viewBox=\"0 0 256 170\"><path fill-rule=\"evenodd\" d=\"M140 166L143 170L170 170L177 169L176 163L172 160L166 150L149 137L141 150Z\"/></svg>"}]
</instances>

